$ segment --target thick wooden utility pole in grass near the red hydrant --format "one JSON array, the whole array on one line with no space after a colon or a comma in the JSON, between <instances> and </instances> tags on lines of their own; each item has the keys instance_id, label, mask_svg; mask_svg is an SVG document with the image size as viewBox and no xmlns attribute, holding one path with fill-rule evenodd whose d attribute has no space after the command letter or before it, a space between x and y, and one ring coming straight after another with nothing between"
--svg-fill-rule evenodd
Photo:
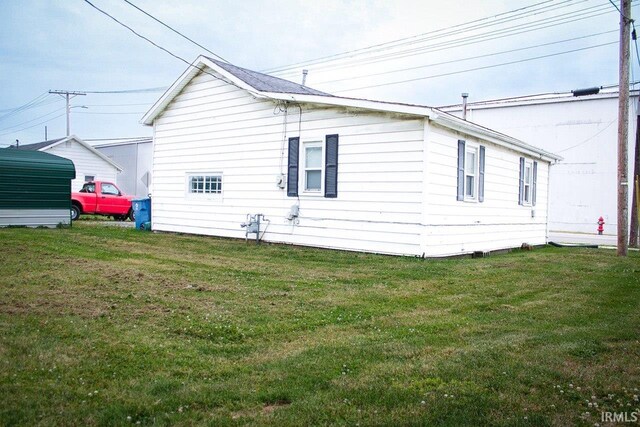
<instances>
[{"instance_id":1,"label":"thick wooden utility pole in grass near the red hydrant","mask_svg":"<svg viewBox=\"0 0 640 427\"><path fill-rule=\"evenodd\" d=\"M620 0L620 90L618 96L618 256L627 256L629 243L629 38L631 0Z\"/></svg>"}]
</instances>

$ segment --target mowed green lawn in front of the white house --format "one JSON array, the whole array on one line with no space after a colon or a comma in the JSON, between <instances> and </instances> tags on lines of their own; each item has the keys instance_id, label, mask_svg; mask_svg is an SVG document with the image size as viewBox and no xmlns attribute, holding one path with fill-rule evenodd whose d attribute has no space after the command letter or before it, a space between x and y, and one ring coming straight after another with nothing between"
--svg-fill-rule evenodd
<instances>
[{"instance_id":1,"label":"mowed green lawn in front of the white house","mask_svg":"<svg viewBox=\"0 0 640 427\"><path fill-rule=\"evenodd\" d=\"M421 260L0 230L0 425L594 425L637 410L640 256Z\"/></svg>"}]
</instances>

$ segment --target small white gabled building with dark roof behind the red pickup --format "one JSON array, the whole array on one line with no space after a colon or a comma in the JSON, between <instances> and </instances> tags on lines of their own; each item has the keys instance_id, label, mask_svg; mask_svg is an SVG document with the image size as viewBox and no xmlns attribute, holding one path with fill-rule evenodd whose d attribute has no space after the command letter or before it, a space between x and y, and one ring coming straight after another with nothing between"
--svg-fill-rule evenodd
<instances>
[{"instance_id":1,"label":"small white gabled building with dark roof behind the red pickup","mask_svg":"<svg viewBox=\"0 0 640 427\"><path fill-rule=\"evenodd\" d=\"M75 135L20 145L17 148L44 151L71 160L76 167L76 178L71 181L71 191L80 191L87 181L116 182L118 173L122 171L117 163Z\"/></svg>"}]
</instances>

